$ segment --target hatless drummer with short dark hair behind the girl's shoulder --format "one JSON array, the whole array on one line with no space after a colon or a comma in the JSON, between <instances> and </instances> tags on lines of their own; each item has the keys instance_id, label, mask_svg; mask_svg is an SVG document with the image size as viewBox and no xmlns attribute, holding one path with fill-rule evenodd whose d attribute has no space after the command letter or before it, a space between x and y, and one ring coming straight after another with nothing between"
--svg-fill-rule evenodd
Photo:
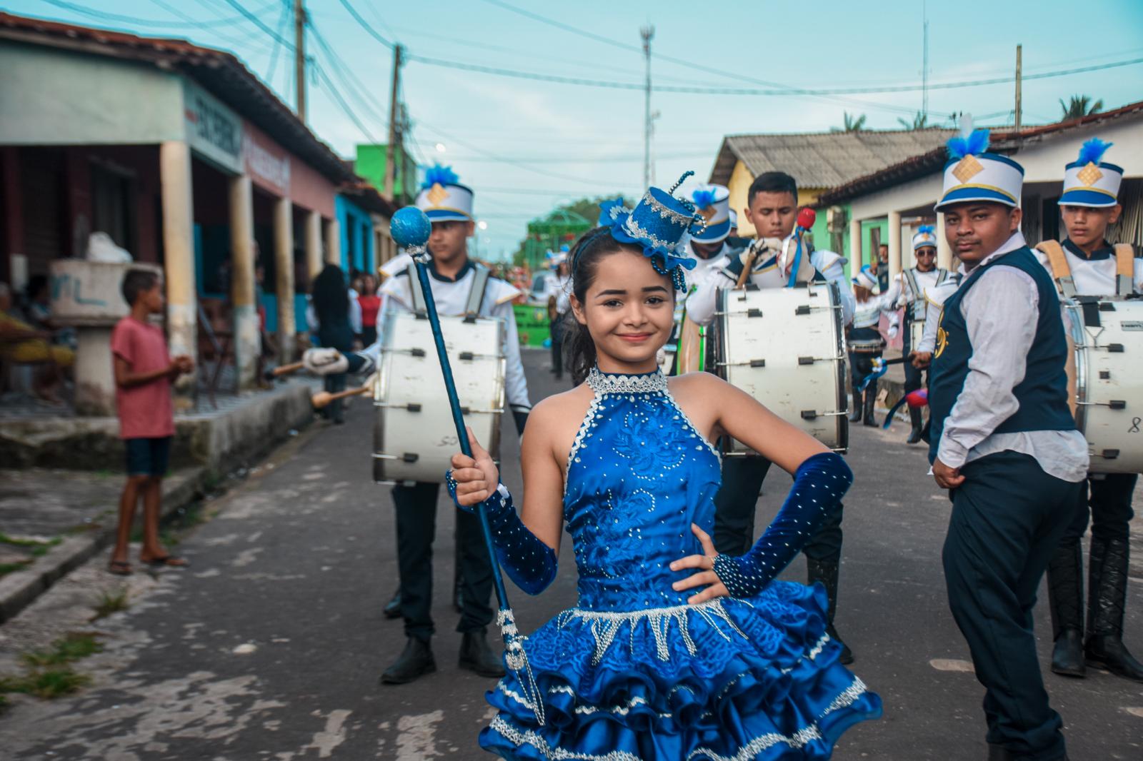
<instances>
[{"instance_id":1,"label":"hatless drummer with short dark hair behind the girl's shoulder","mask_svg":"<svg viewBox=\"0 0 1143 761\"><path fill-rule=\"evenodd\" d=\"M793 233L798 218L798 184L782 171L759 175L746 193L746 221L754 226L759 239L773 239L774 247ZM761 241L759 241L761 243ZM757 245L756 245L757 246ZM792 258L792 257L791 257ZM807 261L808 259L808 261ZM702 326L714 321L719 289L734 288L746 263L751 262L749 280L759 288L784 288L789 279L778 265L777 255L769 248L761 256L752 257L749 249L729 256L725 266L709 272L705 279L695 278L696 288L687 297L688 317ZM845 272L846 259L833 251L812 251L802 259L801 271L809 271L810 280L838 285L841 298L842 323L853 320L853 293ZM791 262L792 265L792 262ZM805 279L805 278L804 278ZM785 329L788 326L778 326ZM770 463L764 457L727 457L722 460L722 487L714 496L714 546L719 552L741 555L750 550L754 535L754 508L762 481ZM833 627L837 612L838 574L841 561L841 506L806 544L806 568L809 583L821 582L829 596L829 627L831 638L841 642ZM841 642L841 663L853 663L853 654Z\"/></svg>"}]
</instances>

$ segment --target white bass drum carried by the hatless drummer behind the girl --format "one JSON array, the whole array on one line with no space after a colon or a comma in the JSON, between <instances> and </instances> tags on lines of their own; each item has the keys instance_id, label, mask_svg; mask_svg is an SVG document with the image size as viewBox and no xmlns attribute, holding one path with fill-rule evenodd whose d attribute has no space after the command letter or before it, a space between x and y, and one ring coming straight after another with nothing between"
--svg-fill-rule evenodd
<instances>
[{"instance_id":1,"label":"white bass drum carried by the hatless drummer behind the girl","mask_svg":"<svg viewBox=\"0 0 1143 761\"><path fill-rule=\"evenodd\" d=\"M722 290L719 375L834 451L849 447L841 298L831 282ZM749 455L730 441L727 455Z\"/></svg>"}]
</instances>

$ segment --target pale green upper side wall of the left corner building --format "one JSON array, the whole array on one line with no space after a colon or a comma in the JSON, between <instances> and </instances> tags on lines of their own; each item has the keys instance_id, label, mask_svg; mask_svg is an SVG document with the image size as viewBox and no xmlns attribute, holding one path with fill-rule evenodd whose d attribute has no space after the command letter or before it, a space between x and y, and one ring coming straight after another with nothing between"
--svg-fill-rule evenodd
<instances>
[{"instance_id":1,"label":"pale green upper side wall of the left corner building","mask_svg":"<svg viewBox=\"0 0 1143 761\"><path fill-rule=\"evenodd\" d=\"M131 145L183 139L183 87L154 66L0 40L6 145Z\"/></svg>"}]
</instances>

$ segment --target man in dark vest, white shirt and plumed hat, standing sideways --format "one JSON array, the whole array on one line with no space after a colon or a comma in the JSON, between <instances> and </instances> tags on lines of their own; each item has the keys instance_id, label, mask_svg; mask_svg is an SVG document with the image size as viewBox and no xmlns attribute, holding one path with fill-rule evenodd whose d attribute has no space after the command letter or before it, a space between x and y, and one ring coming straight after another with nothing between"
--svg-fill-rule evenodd
<instances>
[{"instance_id":1,"label":"man in dark vest, white shirt and plumed hat, standing sideways","mask_svg":"<svg viewBox=\"0 0 1143 761\"><path fill-rule=\"evenodd\" d=\"M949 142L936 205L964 280L937 328L929 462L952 499L949 607L986 690L989 759L1057 761L1032 607L1082 498L1087 442L1068 408L1056 289L1020 233L1024 170L986 147L986 130Z\"/></svg>"}]
</instances>

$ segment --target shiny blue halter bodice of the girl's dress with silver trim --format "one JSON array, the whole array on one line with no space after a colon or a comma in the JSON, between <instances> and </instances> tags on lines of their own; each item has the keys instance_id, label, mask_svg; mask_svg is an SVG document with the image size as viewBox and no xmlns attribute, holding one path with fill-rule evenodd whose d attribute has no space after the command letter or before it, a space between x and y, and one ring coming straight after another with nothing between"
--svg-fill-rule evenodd
<instances>
[{"instance_id":1,"label":"shiny blue halter bodice of the girl's dress with silver trim","mask_svg":"<svg viewBox=\"0 0 1143 761\"><path fill-rule=\"evenodd\" d=\"M711 532L719 457L668 390L666 377L593 369L594 399L568 456L563 518L580 571L578 608L685 604L669 564Z\"/></svg>"}]
</instances>

